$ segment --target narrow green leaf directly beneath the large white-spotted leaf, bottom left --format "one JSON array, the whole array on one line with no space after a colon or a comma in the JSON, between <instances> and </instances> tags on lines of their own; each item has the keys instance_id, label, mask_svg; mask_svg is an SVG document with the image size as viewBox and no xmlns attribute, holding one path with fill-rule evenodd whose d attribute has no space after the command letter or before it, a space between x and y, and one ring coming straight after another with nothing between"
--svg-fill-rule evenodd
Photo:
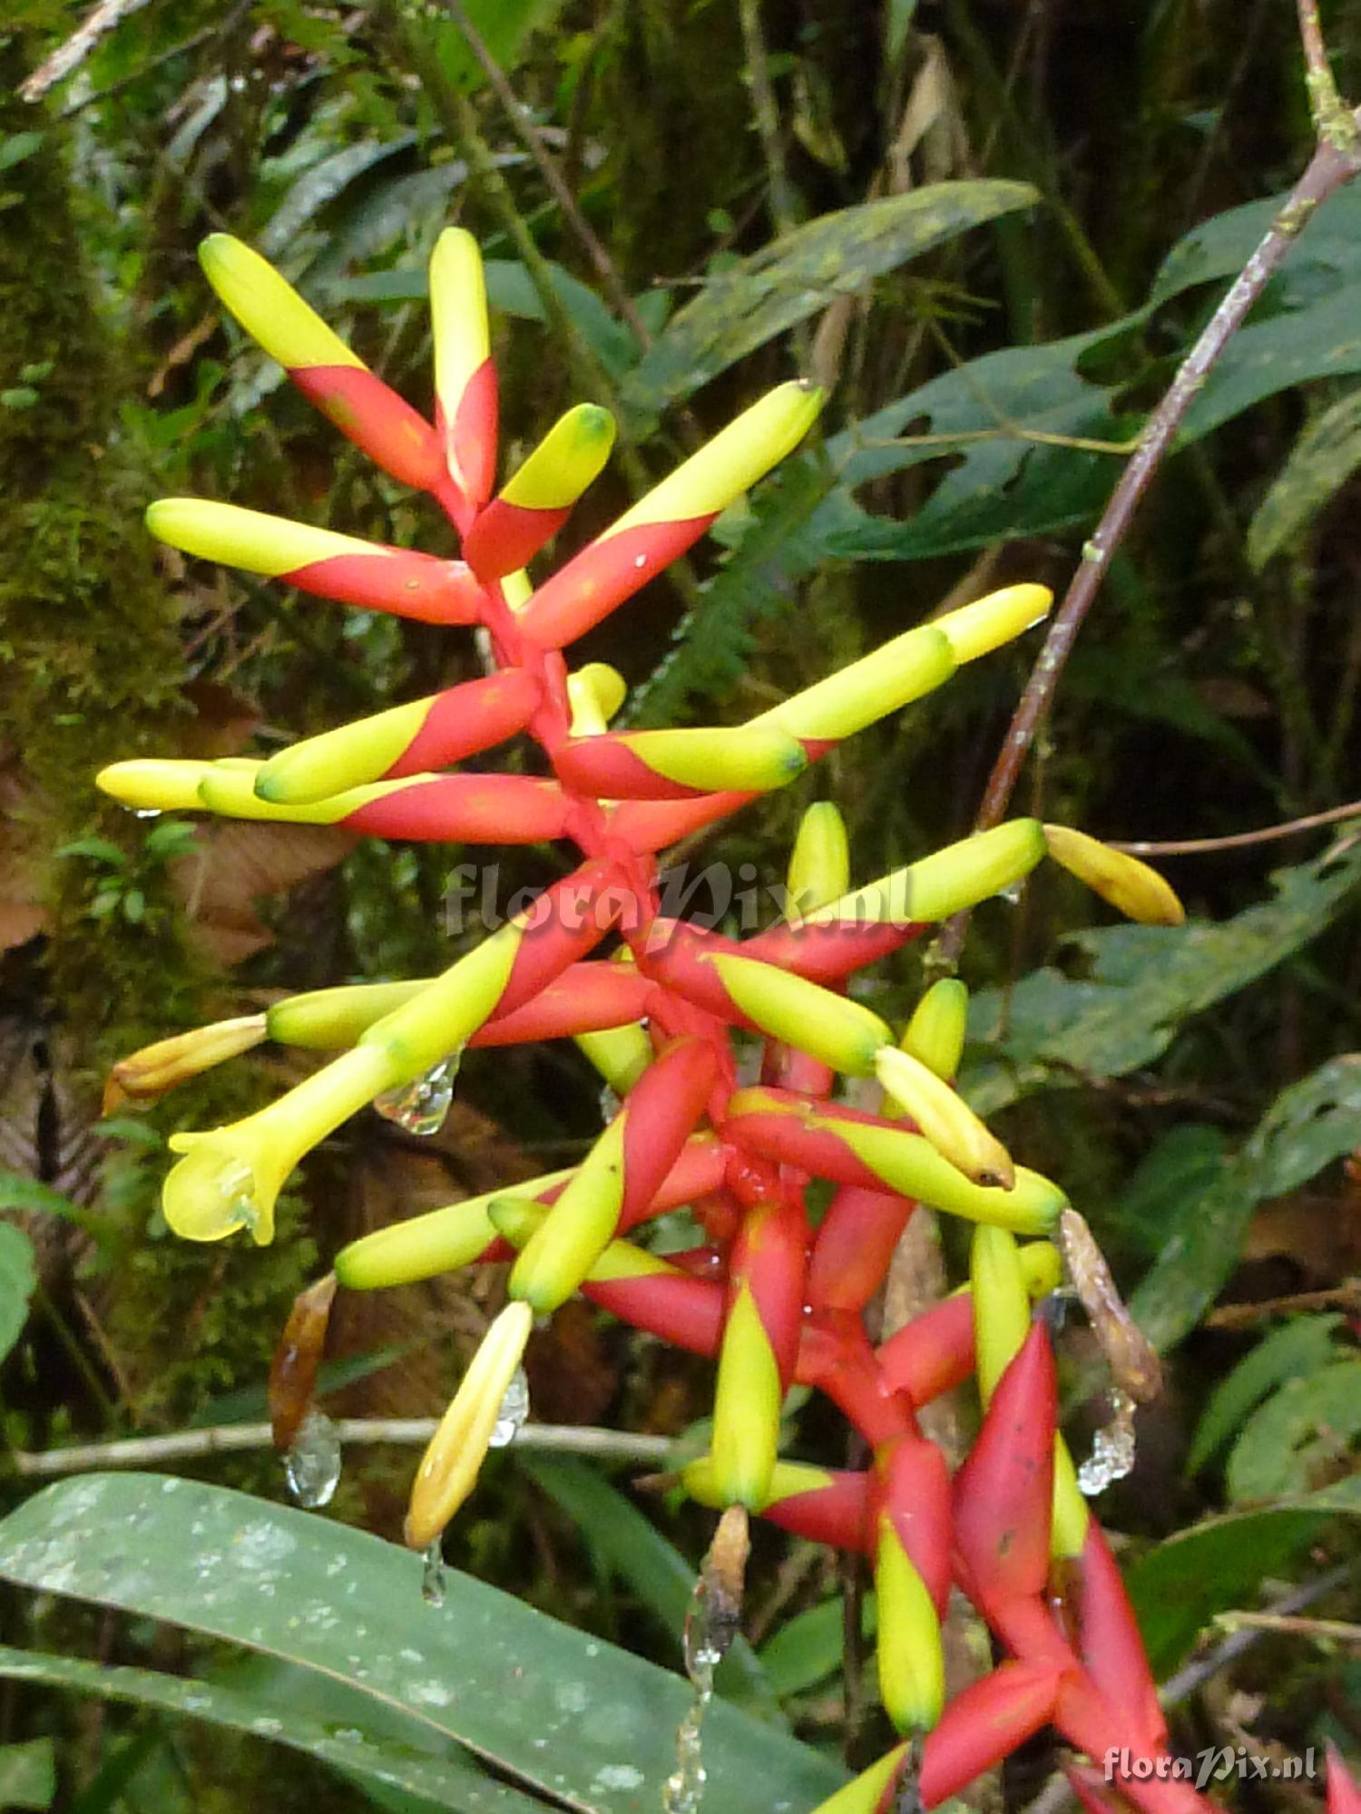
<instances>
[{"instance_id":1,"label":"narrow green leaf directly beneath the large white-spotted leaf, bottom left","mask_svg":"<svg viewBox=\"0 0 1361 1814\"><path fill-rule=\"evenodd\" d=\"M357 1723L336 1725L330 1718L319 1720L292 1698L263 1700L212 1682L162 1674L156 1669L109 1667L76 1656L45 1656L42 1651L0 1649L0 1676L250 1732L270 1743L305 1751L359 1783L374 1781L379 1787L403 1789L441 1809L461 1809L465 1814L537 1814L543 1809L541 1801L486 1776L468 1752L450 1740L432 1754L419 1756L412 1752L410 1740L405 1745L392 1743L361 1731ZM370 1698L356 1696L356 1702L359 1714L352 1711L352 1720L367 1712ZM428 1734L419 1738L430 1749ZM47 1803L9 1801L0 1796L0 1807L47 1807Z\"/></svg>"}]
</instances>

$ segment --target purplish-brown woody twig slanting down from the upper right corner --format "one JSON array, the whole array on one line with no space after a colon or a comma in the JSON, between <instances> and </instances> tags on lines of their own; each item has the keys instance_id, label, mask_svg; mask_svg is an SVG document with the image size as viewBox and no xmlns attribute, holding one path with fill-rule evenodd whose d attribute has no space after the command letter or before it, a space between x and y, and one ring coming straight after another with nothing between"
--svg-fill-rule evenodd
<instances>
[{"instance_id":1,"label":"purplish-brown woody twig slanting down from the upper right corner","mask_svg":"<svg viewBox=\"0 0 1361 1814\"><path fill-rule=\"evenodd\" d=\"M1152 484L1154 473L1172 450L1187 410L1199 395L1219 356L1234 334L1238 334L1248 310L1267 288L1267 283L1276 276L1316 209L1345 183L1350 183L1359 171L1361 145L1356 140L1348 145L1339 145L1336 134L1319 140L1305 174L1290 190L1267 236L1229 287L1229 294L1181 361L1163 401L1143 424L1138 450L1120 475L1102 512L1102 521L1082 550L1078 571L1072 575L1063 602L1049 624L1049 635L1013 713L993 773L987 778L984 804L976 820L978 831L989 831L1005 816L1016 782L1020 780L1022 766L1053 704L1058 677L1072 653L1078 631L1087 611L1092 608L1116 550L1134 521L1134 513L1143 502L1145 492ZM958 958L967 923L967 912L956 914L949 922L938 941L936 963L949 967Z\"/></svg>"}]
</instances>

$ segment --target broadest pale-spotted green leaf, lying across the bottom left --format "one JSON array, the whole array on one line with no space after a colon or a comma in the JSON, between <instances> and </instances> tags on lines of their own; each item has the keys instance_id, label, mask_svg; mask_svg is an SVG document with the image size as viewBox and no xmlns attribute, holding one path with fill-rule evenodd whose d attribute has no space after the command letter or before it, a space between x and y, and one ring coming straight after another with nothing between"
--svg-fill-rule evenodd
<instances>
[{"instance_id":1,"label":"broadest pale-spotted green leaf, lying across the bottom left","mask_svg":"<svg viewBox=\"0 0 1361 1814\"><path fill-rule=\"evenodd\" d=\"M196 1480L89 1475L0 1524L0 1576L319 1669L573 1809L655 1807L690 1685L363 1531ZM278 1709L276 1709L278 1711ZM844 1772L726 1702L704 1727L706 1814L815 1807Z\"/></svg>"}]
</instances>

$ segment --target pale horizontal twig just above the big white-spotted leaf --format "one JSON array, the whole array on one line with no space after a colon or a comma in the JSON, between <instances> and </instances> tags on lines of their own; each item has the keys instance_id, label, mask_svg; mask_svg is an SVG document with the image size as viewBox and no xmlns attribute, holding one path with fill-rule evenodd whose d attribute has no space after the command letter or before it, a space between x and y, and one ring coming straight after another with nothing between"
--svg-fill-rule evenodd
<instances>
[{"instance_id":1,"label":"pale horizontal twig just above the big white-spotted leaf","mask_svg":"<svg viewBox=\"0 0 1361 1814\"><path fill-rule=\"evenodd\" d=\"M341 1417L336 1437L341 1444L394 1442L403 1448L430 1440L439 1426L436 1417ZM521 1449L555 1455L590 1455L593 1460L648 1462L662 1466L680 1458L682 1446L670 1437L635 1437L621 1429L595 1429L588 1424L524 1424L512 1437ZM67 1449L16 1449L9 1460L22 1478L83 1473L89 1468L145 1468L158 1462L198 1460L203 1455L232 1455L274 1446L269 1424L214 1424L209 1429L176 1429L169 1437L127 1437L120 1442L80 1442Z\"/></svg>"}]
</instances>

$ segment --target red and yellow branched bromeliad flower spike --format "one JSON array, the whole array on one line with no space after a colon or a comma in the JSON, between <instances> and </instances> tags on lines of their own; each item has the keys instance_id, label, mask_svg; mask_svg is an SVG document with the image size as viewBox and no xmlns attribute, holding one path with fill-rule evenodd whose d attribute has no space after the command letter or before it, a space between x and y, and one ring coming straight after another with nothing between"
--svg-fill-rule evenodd
<instances>
[{"instance_id":1,"label":"red and yellow branched bromeliad flower spike","mask_svg":"<svg viewBox=\"0 0 1361 1814\"><path fill-rule=\"evenodd\" d=\"M601 472L613 424L570 410L495 490L497 386L475 241L441 236L430 265L434 424L377 379L261 258L216 236L203 267L225 307L385 472L428 492L461 537L441 561L230 504L169 499L149 524L187 553L303 591L432 624L477 626L486 678L308 738L269 762L120 762L102 787L127 805L345 825L385 838L575 845L579 865L532 905L412 983L327 989L267 1014L167 1039L118 1067L131 1096L269 1038L334 1052L279 1101L229 1126L178 1134L165 1217L194 1241L265 1243L298 1161L368 1103L419 1125L446 1099L466 1045L573 1038L619 1096L581 1165L416 1215L347 1246L334 1279L374 1290L477 1259L512 1259L494 1321L417 1469L408 1540L425 1547L472 1491L535 1315L575 1292L641 1330L717 1359L710 1455L684 1471L715 1507L867 1553L878 1671L904 1745L835 1798L875 1809L911 1783L931 1807L1053 1723L1089 1758L1163 1745L1138 1629L1056 1431L1054 1359L1034 1302L1060 1282L1051 1237L1071 1210L1013 1163L951 1088L965 990L936 981L898 1038L851 978L925 927L1053 854L1136 918L1180 907L1145 865L1082 833L1016 820L851 887L842 820L806 813L784 923L744 941L662 916L659 853L786 785L842 738L898 711L1049 610L1009 586L728 729L612 731L624 697L601 664L563 649L690 548L804 437L820 397L762 397L557 573L526 562ZM552 778L445 773L517 733ZM599 956L604 941L610 956ZM764 1038L760 1083L739 1087L733 1034ZM833 1101L838 1078L876 1079L878 1114ZM813 1224L806 1188L835 1186ZM976 1224L973 1273L878 1350L864 1310L918 1203ZM630 1234L690 1204L704 1244L666 1259ZM1018 1239L1025 1237L1025 1239ZM294 1346L318 1351L332 1281L299 1301ZM951 1478L918 1411L976 1373L985 1415ZM778 1458L793 1382L831 1397L871 1449L864 1473ZM945 1702L940 1622L951 1585L1005 1660ZM1105 1809L1100 1778L1074 1776ZM1121 1783L1149 1814L1192 1790L1152 1772Z\"/></svg>"}]
</instances>

